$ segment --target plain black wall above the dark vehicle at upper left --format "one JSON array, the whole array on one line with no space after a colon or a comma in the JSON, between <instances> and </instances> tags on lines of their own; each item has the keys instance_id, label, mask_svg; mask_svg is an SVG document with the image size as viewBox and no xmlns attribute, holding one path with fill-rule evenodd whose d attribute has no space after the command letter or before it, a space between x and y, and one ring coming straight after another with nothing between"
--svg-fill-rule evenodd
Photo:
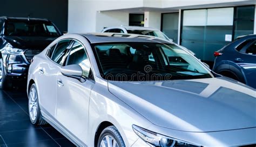
<instances>
[{"instance_id":1,"label":"plain black wall above the dark vehicle at upper left","mask_svg":"<svg viewBox=\"0 0 256 147\"><path fill-rule=\"evenodd\" d=\"M47 18L68 31L68 0L2 0L0 16Z\"/></svg>"}]
</instances>

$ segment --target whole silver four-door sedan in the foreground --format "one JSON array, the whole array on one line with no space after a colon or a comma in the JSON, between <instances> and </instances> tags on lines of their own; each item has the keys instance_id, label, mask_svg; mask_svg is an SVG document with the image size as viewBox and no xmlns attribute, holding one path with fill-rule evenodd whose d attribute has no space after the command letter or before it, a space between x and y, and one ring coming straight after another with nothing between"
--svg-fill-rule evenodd
<instances>
[{"instance_id":1,"label":"whole silver four-door sedan in the foreground","mask_svg":"<svg viewBox=\"0 0 256 147\"><path fill-rule=\"evenodd\" d=\"M31 122L78 146L255 146L255 96L183 48L142 35L60 36L28 75Z\"/></svg>"}]
</instances>

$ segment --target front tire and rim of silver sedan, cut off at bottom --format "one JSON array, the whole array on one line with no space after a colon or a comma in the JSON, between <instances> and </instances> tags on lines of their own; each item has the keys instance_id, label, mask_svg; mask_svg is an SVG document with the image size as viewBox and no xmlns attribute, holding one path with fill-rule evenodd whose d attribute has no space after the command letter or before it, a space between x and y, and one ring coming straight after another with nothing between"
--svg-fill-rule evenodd
<instances>
[{"instance_id":1,"label":"front tire and rim of silver sedan, cut off at bottom","mask_svg":"<svg viewBox=\"0 0 256 147\"><path fill-rule=\"evenodd\" d=\"M123 138L116 127L109 126L102 131L98 139L97 147L102 147L102 146L113 146L113 147L125 146Z\"/></svg>"}]
</instances>

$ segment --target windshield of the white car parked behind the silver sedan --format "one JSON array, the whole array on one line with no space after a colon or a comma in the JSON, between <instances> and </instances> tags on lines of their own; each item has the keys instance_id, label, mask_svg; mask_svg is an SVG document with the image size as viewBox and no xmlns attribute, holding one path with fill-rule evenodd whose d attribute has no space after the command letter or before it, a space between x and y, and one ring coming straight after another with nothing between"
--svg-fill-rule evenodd
<instances>
[{"instance_id":1,"label":"windshield of the white car parked behind the silver sedan","mask_svg":"<svg viewBox=\"0 0 256 147\"><path fill-rule=\"evenodd\" d=\"M156 36L158 38L169 40L164 33L161 31L155 31L155 30L127 30L127 33L129 34L139 34L139 35L150 35L150 36Z\"/></svg>"}]
</instances>

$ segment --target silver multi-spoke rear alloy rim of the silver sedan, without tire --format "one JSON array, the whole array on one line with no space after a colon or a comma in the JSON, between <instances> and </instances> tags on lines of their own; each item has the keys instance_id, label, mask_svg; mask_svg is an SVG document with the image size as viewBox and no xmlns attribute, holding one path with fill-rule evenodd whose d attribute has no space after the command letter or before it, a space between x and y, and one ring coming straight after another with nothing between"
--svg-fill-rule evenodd
<instances>
[{"instance_id":1,"label":"silver multi-spoke rear alloy rim of the silver sedan, without tire","mask_svg":"<svg viewBox=\"0 0 256 147\"><path fill-rule=\"evenodd\" d=\"M31 88L29 92L29 116L32 121L36 120L38 110L38 99L37 92L34 87Z\"/></svg>"}]
</instances>

